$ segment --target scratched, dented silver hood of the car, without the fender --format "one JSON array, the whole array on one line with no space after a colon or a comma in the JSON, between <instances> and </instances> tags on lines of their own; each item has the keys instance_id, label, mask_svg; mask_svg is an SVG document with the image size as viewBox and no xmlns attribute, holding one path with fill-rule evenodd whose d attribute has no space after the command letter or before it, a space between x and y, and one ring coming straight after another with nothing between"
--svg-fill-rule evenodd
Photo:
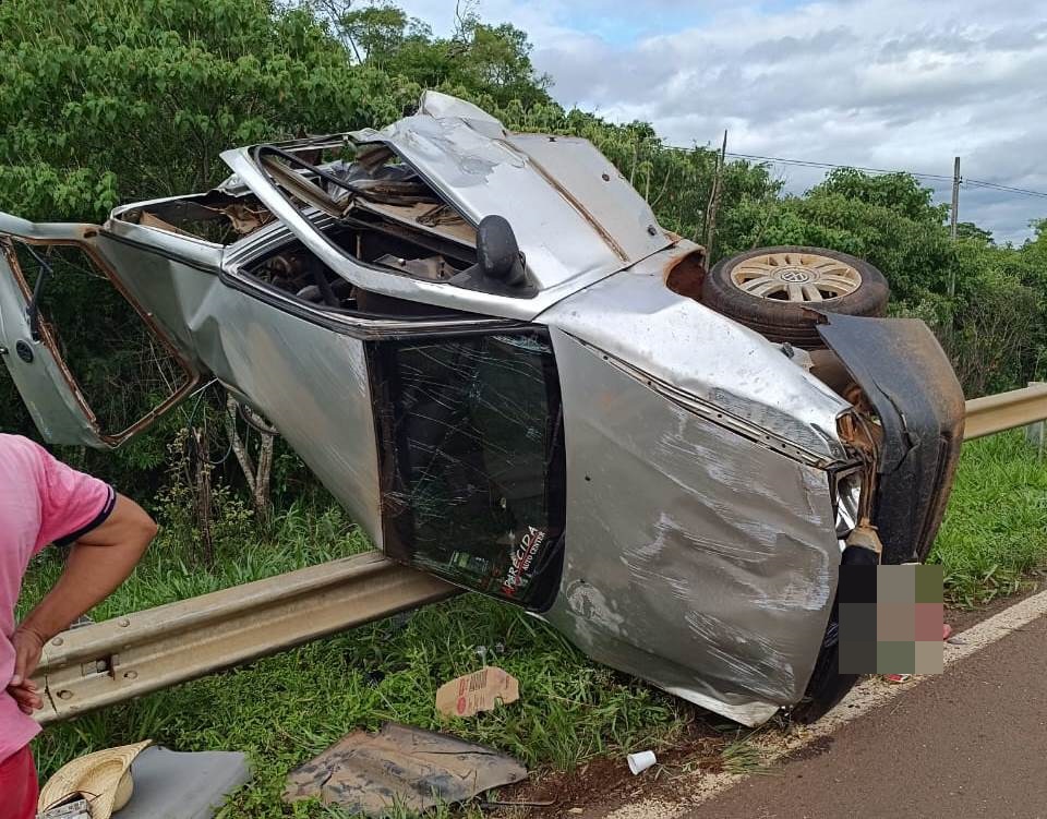
<instances>
[{"instance_id":1,"label":"scratched, dented silver hood of the car, without the fender","mask_svg":"<svg viewBox=\"0 0 1047 819\"><path fill-rule=\"evenodd\" d=\"M610 665L763 722L803 696L835 594L826 472L553 340L570 547L545 616Z\"/></svg>"}]
</instances>

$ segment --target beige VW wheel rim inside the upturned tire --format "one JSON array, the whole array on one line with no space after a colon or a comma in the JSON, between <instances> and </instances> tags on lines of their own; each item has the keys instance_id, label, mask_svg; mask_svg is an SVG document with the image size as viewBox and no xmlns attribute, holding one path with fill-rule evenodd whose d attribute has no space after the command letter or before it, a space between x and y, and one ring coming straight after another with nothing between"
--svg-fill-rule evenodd
<instances>
[{"instance_id":1,"label":"beige VW wheel rim inside the upturned tire","mask_svg":"<svg viewBox=\"0 0 1047 819\"><path fill-rule=\"evenodd\" d=\"M760 299L826 301L862 287L862 274L846 262L817 253L766 253L738 262L731 281Z\"/></svg>"}]
</instances>

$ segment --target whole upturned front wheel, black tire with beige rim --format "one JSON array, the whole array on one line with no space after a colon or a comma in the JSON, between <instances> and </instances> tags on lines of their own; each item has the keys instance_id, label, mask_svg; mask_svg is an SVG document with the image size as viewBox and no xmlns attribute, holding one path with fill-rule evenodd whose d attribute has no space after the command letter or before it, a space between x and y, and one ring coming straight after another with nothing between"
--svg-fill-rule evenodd
<instances>
[{"instance_id":1,"label":"whole upturned front wheel, black tire with beige rim","mask_svg":"<svg viewBox=\"0 0 1047 819\"><path fill-rule=\"evenodd\" d=\"M823 346L815 311L879 316L889 294L883 274L868 262L833 250L781 245L718 262L701 300L771 341L814 349Z\"/></svg>"}]
</instances>

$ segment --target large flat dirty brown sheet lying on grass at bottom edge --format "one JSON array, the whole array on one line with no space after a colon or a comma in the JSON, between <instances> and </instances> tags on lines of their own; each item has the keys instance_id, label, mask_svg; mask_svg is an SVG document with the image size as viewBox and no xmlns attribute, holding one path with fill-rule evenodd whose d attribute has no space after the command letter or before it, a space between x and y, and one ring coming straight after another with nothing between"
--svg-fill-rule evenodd
<instances>
[{"instance_id":1,"label":"large flat dirty brown sheet lying on grass at bottom edge","mask_svg":"<svg viewBox=\"0 0 1047 819\"><path fill-rule=\"evenodd\" d=\"M492 748L387 722L377 734L349 734L291 771L284 800L318 797L378 819L396 807L420 811L526 778L524 766Z\"/></svg>"}]
</instances>

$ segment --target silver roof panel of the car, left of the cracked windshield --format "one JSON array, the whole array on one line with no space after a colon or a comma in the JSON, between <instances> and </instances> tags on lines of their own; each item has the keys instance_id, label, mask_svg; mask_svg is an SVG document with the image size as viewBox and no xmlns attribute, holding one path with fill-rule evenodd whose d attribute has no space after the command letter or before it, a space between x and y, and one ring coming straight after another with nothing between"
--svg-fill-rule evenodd
<instances>
[{"instance_id":1,"label":"silver roof panel of the car, left of the cracked windshield","mask_svg":"<svg viewBox=\"0 0 1047 819\"><path fill-rule=\"evenodd\" d=\"M120 229L122 239L101 241L127 289L146 300L179 349L279 430L381 549L363 341L290 314L261 292L230 287L218 270L190 264L184 254L156 253L143 263L128 239L141 240L149 229Z\"/></svg>"}]
</instances>

